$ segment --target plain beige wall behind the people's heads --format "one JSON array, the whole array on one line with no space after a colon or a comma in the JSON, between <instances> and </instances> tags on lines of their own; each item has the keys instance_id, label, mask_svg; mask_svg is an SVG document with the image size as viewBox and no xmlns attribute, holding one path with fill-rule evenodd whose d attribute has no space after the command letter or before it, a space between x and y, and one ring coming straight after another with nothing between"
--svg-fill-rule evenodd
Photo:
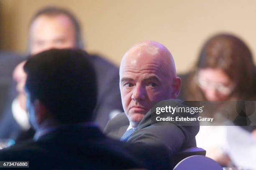
<instances>
[{"instance_id":1,"label":"plain beige wall behind the people's heads","mask_svg":"<svg viewBox=\"0 0 256 170\"><path fill-rule=\"evenodd\" d=\"M218 32L233 33L253 54L256 50L253 0L0 0L0 49L26 52L29 22L47 5L71 10L87 51L115 65L133 44L155 40L172 52L177 72L184 73L195 65L203 42Z\"/></svg>"}]
</instances>

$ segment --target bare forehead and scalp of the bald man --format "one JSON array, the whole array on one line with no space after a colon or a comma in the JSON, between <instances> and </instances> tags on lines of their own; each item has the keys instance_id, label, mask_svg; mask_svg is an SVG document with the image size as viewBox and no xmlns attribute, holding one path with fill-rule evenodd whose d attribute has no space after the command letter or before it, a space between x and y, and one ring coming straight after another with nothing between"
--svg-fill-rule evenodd
<instances>
[{"instance_id":1,"label":"bare forehead and scalp of the bald man","mask_svg":"<svg viewBox=\"0 0 256 170\"><path fill-rule=\"evenodd\" d=\"M152 70L160 70L163 74L176 76L176 70L172 54L158 42L145 41L133 45L123 56L120 64L120 76L123 71L135 67L150 67Z\"/></svg>"}]
</instances>

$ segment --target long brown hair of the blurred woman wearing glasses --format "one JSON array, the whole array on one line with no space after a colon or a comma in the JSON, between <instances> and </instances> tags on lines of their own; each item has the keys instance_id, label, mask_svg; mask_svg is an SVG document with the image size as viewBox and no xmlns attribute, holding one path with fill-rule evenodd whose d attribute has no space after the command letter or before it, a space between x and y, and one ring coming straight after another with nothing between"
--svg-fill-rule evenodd
<instances>
[{"instance_id":1,"label":"long brown hair of the blurred woman wearing glasses","mask_svg":"<svg viewBox=\"0 0 256 170\"><path fill-rule=\"evenodd\" d=\"M213 68L222 70L235 88L230 98L246 100L255 97L256 68L247 45L238 37L230 34L217 34L203 45L195 71L189 76L188 100L205 100L197 86L196 72L200 69Z\"/></svg>"}]
</instances>

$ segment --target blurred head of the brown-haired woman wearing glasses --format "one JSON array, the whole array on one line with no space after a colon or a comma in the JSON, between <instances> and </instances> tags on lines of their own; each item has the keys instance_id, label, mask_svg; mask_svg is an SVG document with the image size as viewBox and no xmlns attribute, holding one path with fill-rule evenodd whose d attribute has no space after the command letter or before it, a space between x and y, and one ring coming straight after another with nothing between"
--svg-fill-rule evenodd
<instances>
[{"instance_id":1,"label":"blurred head of the brown-haired woman wearing glasses","mask_svg":"<svg viewBox=\"0 0 256 170\"><path fill-rule=\"evenodd\" d=\"M253 99L256 68L251 51L234 35L215 35L202 47L196 69L183 85L184 100Z\"/></svg>"}]
</instances>

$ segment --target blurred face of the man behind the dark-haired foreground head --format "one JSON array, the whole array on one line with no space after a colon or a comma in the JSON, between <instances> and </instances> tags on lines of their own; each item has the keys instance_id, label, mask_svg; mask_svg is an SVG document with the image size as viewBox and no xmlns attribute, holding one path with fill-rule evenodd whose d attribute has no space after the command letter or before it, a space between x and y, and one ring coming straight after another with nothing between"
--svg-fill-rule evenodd
<instances>
[{"instance_id":1,"label":"blurred face of the man behind the dark-haired foreground head","mask_svg":"<svg viewBox=\"0 0 256 170\"><path fill-rule=\"evenodd\" d=\"M72 48L76 45L72 21L66 15L40 15L30 28L31 54L50 48Z\"/></svg>"}]
</instances>

